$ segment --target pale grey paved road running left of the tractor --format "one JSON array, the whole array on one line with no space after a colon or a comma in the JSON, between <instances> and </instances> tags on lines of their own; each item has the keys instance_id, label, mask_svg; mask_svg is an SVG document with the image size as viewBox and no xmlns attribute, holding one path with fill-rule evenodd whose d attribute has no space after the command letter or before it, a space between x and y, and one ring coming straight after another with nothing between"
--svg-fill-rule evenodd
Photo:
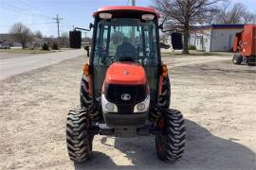
<instances>
[{"instance_id":1,"label":"pale grey paved road running left of the tractor","mask_svg":"<svg viewBox=\"0 0 256 170\"><path fill-rule=\"evenodd\" d=\"M40 55L27 55L19 58L0 59L0 79L9 76L18 75L37 68L45 67L54 63L58 63L64 59L72 59L84 55L82 49L68 50L59 53L49 53Z\"/></svg>"}]
</instances>

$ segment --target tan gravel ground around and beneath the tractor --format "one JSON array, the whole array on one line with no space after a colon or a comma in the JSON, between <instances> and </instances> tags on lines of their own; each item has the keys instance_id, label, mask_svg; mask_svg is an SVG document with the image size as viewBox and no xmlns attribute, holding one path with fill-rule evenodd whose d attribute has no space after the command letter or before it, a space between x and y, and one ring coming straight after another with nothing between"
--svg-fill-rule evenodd
<instances>
[{"instance_id":1,"label":"tan gravel ground around and beneath the tractor","mask_svg":"<svg viewBox=\"0 0 256 170\"><path fill-rule=\"evenodd\" d=\"M0 81L0 169L256 169L256 67L217 56L164 58L172 108L186 119L181 161L158 161L154 137L106 136L90 161L69 161L65 118L79 104L84 59Z\"/></svg>"}]
</instances>

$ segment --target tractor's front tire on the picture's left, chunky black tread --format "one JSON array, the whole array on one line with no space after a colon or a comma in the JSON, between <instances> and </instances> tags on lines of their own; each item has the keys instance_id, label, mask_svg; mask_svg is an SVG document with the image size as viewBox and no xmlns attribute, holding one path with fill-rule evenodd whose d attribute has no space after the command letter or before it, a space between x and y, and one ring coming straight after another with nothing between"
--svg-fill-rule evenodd
<instances>
[{"instance_id":1,"label":"tractor's front tire on the picture's left, chunky black tread","mask_svg":"<svg viewBox=\"0 0 256 170\"><path fill-rule=\"evenodd\" d=\"M93 135L87 110L69 110L66 122L66 144L70 160L86 161L91 156Z\"/></svg>"}]
</instances>

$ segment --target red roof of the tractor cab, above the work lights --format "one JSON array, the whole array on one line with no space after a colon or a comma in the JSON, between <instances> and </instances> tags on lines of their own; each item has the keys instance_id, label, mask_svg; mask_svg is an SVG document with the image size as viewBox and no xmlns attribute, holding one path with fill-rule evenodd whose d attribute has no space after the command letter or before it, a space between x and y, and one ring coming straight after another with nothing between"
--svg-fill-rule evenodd
<instances>
[{"instance_id":1,"label":"red roof of the tractor cab, above the work lights","mask_svg":"<svg viewBox=\"0 0 256 170\"><path fill-rule=\"evenodd\" d=\"M124 10L152 13L157 18L159 17L159 14L155 11L154 8L145 8L145 7L137 7L137 6L107 6L107 7L99 8L98 11L93 13L93 16L97 16L101 12L113 12L113 11L124 11Z\"/></svg>"}]
</instances>

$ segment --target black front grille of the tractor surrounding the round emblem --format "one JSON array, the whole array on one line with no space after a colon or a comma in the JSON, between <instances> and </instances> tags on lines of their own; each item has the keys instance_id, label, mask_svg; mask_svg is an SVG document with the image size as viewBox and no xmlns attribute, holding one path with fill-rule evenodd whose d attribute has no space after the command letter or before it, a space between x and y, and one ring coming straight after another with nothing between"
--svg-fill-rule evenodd
<instances>
[{"instance_id":1,"label":"black front grille of the tractor surrounding the round emblem","mask_svg":"<svg viewBox=\"0 0 256 170\"><path fill-rule=\"evenodd\" d=\"M127 101L121 99L123 93L128 93L131 98ZM146 98L146 85L121 85L121 84L106 84L105 97L108 101L117 105L135 105ZM123 108L122 107L122 108Z\"/></svg>"}]
</instances>

